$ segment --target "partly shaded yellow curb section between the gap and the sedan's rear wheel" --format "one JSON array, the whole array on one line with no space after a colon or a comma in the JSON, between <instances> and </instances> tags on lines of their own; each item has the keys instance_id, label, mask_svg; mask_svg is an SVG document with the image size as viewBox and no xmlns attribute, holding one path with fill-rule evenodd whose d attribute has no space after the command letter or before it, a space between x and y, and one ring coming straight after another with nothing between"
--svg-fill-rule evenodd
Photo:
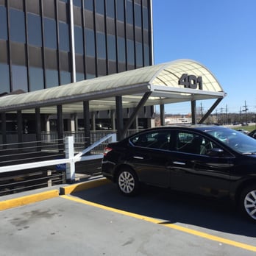
<instances>
[{"instance_id":1,"label":"partly shaded yellow curb section between the gap and the sedan's rear wheel","mask_svg":"<svg viewBox=\"0 0 256 256\"><path fill-rule=\"evenodd\" d=\"M87 182L81 182L74 185L69 185L63 188L60 188L60 195L67 195L70 193L78 192L78 191L84 191L89 188L96 188L101 185L105 185L109 183L110 181L106 178L103 179L97 179L97 180L91 180Z\"/></svg>"}]
</instances>

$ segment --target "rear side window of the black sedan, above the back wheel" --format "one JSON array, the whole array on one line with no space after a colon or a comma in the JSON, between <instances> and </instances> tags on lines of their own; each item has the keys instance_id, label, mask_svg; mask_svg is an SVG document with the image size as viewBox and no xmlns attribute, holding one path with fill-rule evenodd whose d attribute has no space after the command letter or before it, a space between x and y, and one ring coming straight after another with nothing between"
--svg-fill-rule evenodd
<instances>
[{"instance_id":1,"label":"rear side window of the black sedan, above the back wheel","mask_svg":"<svg viewBox=\"0 0 256 256\"><path fill-rule=\"evenodd\" d=\"M170 149L171 132L152 131L141 135L135 135L129 140L134 146L140 146L151 149Z\"/></svg>"}]
</instances>

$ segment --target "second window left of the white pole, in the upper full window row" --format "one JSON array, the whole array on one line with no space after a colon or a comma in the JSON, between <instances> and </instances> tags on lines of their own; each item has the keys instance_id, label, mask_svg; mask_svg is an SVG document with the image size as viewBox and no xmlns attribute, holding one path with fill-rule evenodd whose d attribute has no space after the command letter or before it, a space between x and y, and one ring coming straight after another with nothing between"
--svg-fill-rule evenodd
<instances>
[{"instance_id":1,"label":"second window left of the white pole, in the upper full window row","mask_svg":"<svg viewBox=\"0 0 256 256\"><path fill-rule=\"evenodd\" d=\"M56 21L51 18L43 18L45 46L57 49Z\"/></svg>"}]
</instances>

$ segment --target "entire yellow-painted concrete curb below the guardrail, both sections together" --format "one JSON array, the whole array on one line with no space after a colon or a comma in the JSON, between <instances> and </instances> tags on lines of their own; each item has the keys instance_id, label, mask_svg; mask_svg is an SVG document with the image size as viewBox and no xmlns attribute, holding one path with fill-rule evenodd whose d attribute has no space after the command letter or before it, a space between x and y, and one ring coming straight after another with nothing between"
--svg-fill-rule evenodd
<instances>
[{"instance_id":1,"label":"entire yellow-painted concrete curb below the guardrail, both sections together","mask_svg":"<svg viewBox=\"0 0 256 256\"><path fill-rule=\"evenodd\" d=\"M84 182L77 182L75 184L55 185L47 188L40 188L32 191L25 191L21 193L14 193L7 196L0 197L0 210L7 210L21 205L29 205L35 202L40 202L46 199L51 199L60 195L66 195L77 191L83 191L89 188L96 188L100 185L109 182L102 176L90 177Z\"/></svg>"}]
</instances>

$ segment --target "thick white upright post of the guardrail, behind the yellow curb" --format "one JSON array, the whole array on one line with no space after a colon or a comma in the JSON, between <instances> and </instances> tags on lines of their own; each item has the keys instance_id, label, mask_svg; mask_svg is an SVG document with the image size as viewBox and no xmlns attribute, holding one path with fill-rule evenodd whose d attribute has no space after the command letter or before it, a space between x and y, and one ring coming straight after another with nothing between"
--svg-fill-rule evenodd
<instances>
[{"instance_id":1,"label":"thick white upright post of the guardrail, behind the yellow curb","mask_svg":"<svg viewBox=\"0 0 256 256\"><path fill-rule=\"evenodd\" d=\"M71 160L66 163L65 176L67 181L73 182L76 178L74 158L74 137L65 137L65 158Z\"/></svg>"}]
</instances>

